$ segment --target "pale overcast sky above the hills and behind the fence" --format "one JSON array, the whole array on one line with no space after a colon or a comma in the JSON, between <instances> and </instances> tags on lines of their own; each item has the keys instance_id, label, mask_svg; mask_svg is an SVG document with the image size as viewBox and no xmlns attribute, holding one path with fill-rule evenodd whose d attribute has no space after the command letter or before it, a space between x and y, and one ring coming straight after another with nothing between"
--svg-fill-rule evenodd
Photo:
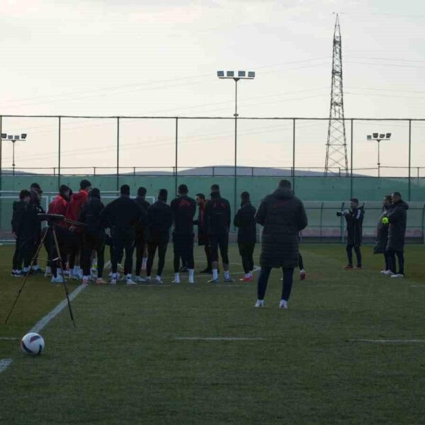
<instances>
[{"instance_id":1,"label":"pale overcast sky above the hills and behind the fence","mask_svg":"<svg viewBox=\"0 0 425 425\"><path fill-rule=\"evenodd\" d=\"M425 4L419 0L1 0L0 113L327 117L339 12L347 118L425 118ZM425 123L412 164L425 166ZM374 166L373 130L391 131L382 165L407 166L405 123L358 123L354 166ZM115 120L62 120L62 166L115 166ZM349 128L348 135L349 135ZM57 165L57 120L4 118L28 132L16 165ZM174 120L123 120L123 166L172 166ZM323 166L327 123L297 124L297 166ZM233 123L181 121L182 166L232 164ZM239 164L290 166L291 123L240 121ZM25 144L25 147L23 146ZM4 144L5 145L5 144ZM11 165L11 144L4 166ZM425 175L425 169L423 171Z\"/></svg>"}]
</instances>

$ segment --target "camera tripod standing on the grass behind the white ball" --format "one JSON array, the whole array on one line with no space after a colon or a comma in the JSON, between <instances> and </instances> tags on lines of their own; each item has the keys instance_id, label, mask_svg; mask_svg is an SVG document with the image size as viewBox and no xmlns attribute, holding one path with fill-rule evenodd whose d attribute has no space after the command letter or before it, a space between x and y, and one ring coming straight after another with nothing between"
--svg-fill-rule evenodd
<instances>
[{"instance_id":1,"label":"camera tripod standing on the grass behind the white ball","mask_svg":"<svg viewBox=\"0 0 425 425\"><path fill-rule=\"evenodd\" d=\"M26 285L26 282L28 280L28 276L30 276L31 270L33 270L33 265L35 263L35 259L38 258L38 254L40 253L41 247L43 246L45 239L47 238L47 235L52 234L57 257L55 259L50 259L50 261L51 262L56 261L57 262L56 270L57 270L57 272L60 270L60 272L62 273L62 283L64 285L65 296L67 297L67 305L68 305L68 310L69 310L69 316L71 317L71 320L72 320L72 323L74 324L74 327L76 327L77 325L75 324L74 314L72 313L71 302L69 301L68 285L67 285L67 281L65 280L65 276L64 276L62 256L60 254L59 243L57 242L56 226L58 225L59 222L67 223L67 224L73 225L73 226L84 226L84 224L80 223L80 222L76 222L74 220L68 220L67 218L64 217L64 215L57 215L57 214L38 214L38 218L40 220L46 220L47 221L47 227L46 227L44 234L42 235L42 238L40 240L40 243L38 244L37 249L35 250L35 254L34 254L33 259L31 260L31 263L30 263L30 268L28 269L28 271L26 272L26 275L23 278L21 288L19 288L19 290L18 290L18 294L16 295L16 299L13 302L11 310L8 312L8 315L6 317L6 320L4 321L4 324L6 324L8 322L9 317L11 317L11 314L13 312L13 309L15 308L16 302L18 302L19 296L21 295L23 288Z\"/></svg>"}]
</instances>

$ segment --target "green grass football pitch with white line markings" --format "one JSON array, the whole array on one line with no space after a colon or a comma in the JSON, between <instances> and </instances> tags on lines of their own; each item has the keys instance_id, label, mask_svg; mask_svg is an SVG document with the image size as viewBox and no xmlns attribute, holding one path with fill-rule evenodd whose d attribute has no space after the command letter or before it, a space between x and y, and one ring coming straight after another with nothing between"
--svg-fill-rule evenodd
<instances>
[{"instance_id":1,"label":"green grass football pitch with white line markings","mask_svg":"<svg viewBox=\"0 0 425 425\"><path fill-rule=\"evenodd\" d=\"M344 246L302 245L307 280L296 275L286 311L279 271L254 309L255 283L171 285L171 251L162 286L86 288L77 329L63 310L33 358L1 338L21 338L63 288L31 278L5 326L21 280L0 247L0 359L13 359L0 373L1 424L425 423L425 343L358 341L425 341L425 246L407 246L401 280L378 273L371 246L363 271L342 271ZM236 246L230 254L240 273Z\"/></svg>"}]
</instances>

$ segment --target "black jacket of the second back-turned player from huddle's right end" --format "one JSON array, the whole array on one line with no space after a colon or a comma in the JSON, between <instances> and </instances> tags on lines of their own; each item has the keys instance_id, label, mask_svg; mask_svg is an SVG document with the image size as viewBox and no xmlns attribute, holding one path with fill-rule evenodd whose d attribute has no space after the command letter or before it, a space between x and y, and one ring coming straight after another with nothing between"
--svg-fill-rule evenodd
<instances>
[{"instance_id":1,"label":"black jacket of the second back-turned player from huddle's right end","mask_svg":"<svg viewBox=\"0 0 425 425\"><path fill-rule=\"evenodd\" d=\"M230 204L220 194L214 194L204 207L204 225L208 236L227 234L231 223Z\"/></svg>"}]
</instances>

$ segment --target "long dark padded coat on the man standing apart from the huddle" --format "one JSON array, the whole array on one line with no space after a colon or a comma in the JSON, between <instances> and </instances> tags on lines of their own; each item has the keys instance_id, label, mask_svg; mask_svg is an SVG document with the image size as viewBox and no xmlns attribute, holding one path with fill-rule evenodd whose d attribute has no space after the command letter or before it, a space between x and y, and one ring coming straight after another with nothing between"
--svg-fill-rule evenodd
<instances>
[{"instance_id":1,"label":"long dark padded coat on the man standing apart from the huddle","mask_svg":"<svg viewBox=\"0 0 425 425\"><path fill-rule=\"evenodd\" d=\"M264 226L261 237L261 266L298 266L298 232L307 227L304 205L292 191L278 188L266 196L256 213Z\"/></svg>"}]
</instances>

